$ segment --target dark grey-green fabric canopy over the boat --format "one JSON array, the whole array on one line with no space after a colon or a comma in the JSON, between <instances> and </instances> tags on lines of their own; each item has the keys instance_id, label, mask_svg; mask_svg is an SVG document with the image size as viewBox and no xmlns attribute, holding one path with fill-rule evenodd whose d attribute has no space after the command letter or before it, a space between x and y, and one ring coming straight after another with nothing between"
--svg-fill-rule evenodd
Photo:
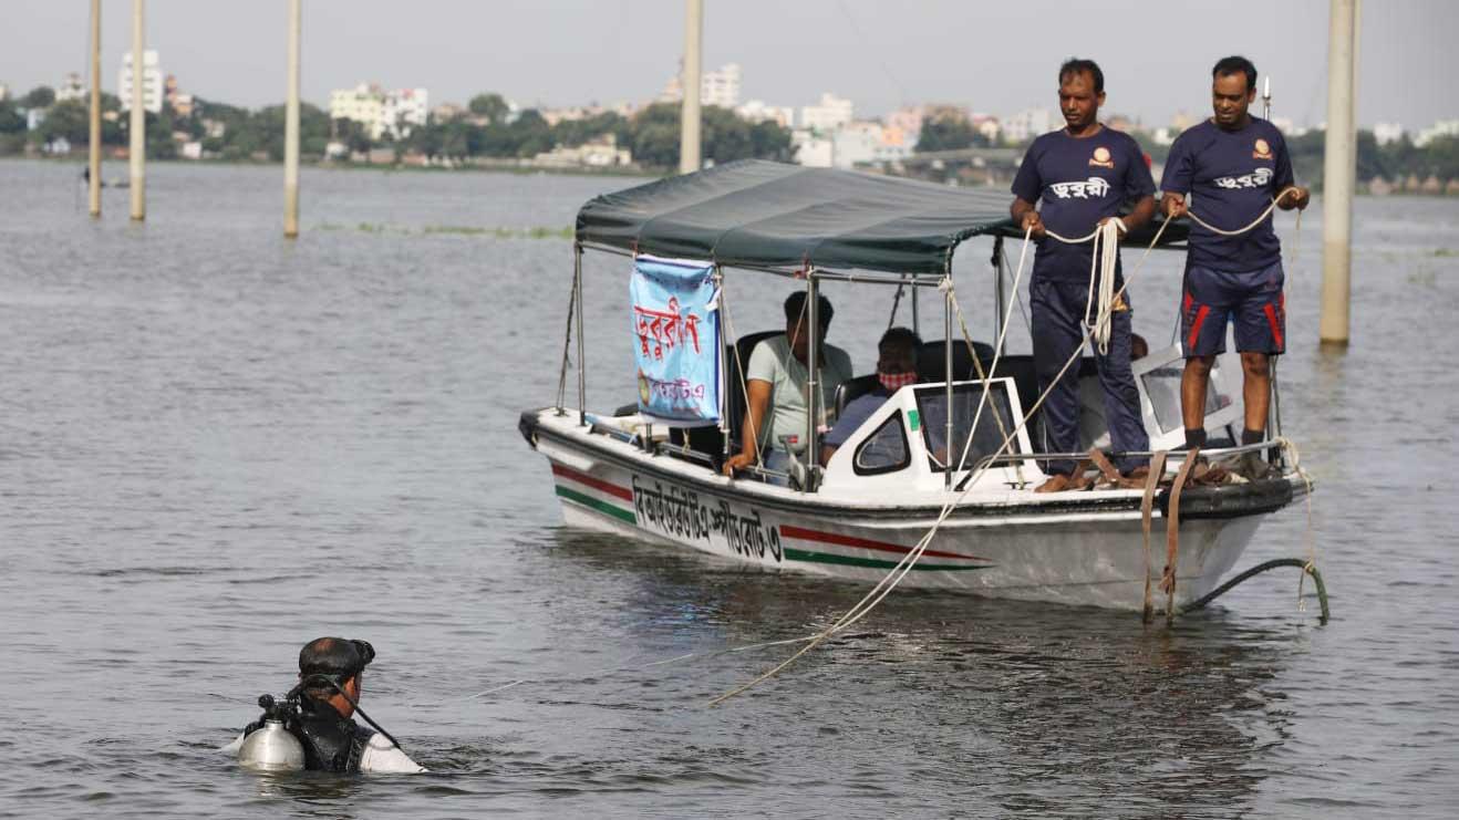
<instances>
[{"instance_id":1,"label":"dark grey-green fabric canopy over the boat","mask_svg":"<svg viewBox=\"0 0 1459 820\"><path fill-rule=\"evenodd\" d=\"M727 267L943 276L967 238L1023 238L1011 201L998 190L746 159L595 197L578 212L576 238Z\"/></svg>"}]
</instances>

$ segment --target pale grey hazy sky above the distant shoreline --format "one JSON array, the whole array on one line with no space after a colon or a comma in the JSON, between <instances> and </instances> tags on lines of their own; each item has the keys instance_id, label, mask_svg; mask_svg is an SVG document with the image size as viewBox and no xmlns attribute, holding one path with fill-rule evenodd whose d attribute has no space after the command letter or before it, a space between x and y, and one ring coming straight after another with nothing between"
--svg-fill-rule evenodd
<instances>
[{"instance_id":1,"label":"pale grey hazy sky above the distant shoreline","mask_svg":"<svg viewBox=\"0 0 1459 820\"><path fill-rule=\"evenodd\" d=\"M102 88L115 92L131 0L104 0ZM146 42L185 92L283 101L286 0L149 0ZM88 0L6 0L0 83L85 77ZM303 0L303 98L360 82L426 88L430 104L495 90L524 107L643 102L677 71L683 0ZM1459 3L1369 0L1358 123L1417 130L1459 117ZM705 0L705 69L743 67L741 102L851 98L856 115L947 102L1007 115L1055 108L1059 63L1104 70L1106 114L1204 114L1211 64L1245 54L1272 77L1272 115L1325 121L1328 0Z\"/></svg>"}]
</instances>

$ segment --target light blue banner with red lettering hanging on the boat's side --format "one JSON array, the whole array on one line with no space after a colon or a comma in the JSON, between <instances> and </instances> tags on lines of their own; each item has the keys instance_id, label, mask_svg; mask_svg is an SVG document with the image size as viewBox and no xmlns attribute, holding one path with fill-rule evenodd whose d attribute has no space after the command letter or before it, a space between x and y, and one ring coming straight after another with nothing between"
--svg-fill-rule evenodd
<instances>
[{"instance_id":1,"label":"light blue banner with red lettering hanging on the boat's side","mask_svg":"<svg viewBox=\"0 0 1459 820\"><path fill-rule=\"evenodd\" d=\"M715 267L635 257L633 355L639 413L677 428L719 423L719 302Z\"/></svg>"}]
</instances>

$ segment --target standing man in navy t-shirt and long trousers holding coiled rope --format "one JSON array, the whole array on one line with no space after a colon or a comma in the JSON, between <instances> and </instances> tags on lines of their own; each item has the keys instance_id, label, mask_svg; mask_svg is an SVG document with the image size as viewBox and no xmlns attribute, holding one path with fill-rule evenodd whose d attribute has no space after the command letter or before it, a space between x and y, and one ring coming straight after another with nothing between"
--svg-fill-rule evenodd
<instances>
[{"instance_id":1,"label":"standing man in navy t-shirt and long trousers holding coiled rope","mask_svg":"<svg viewBox=\"0 0 1459 820\"><path fill-rule=\"evenodd\" d=\"M1104 73L1093 60L1069 60L1059 66L1059 111L1067 127L1033 140L1013 181L1014 220L1037 239L1029 302L1033 315L1033 362L1043 403L1043 428L1049 452L1080 449L1078 368L1071 366L1055 382L1059 369L1084 344L1084 325L1097 318L1090 302L1093 244L1071 245L1048 235L1084 236L1096 226L1119 217L1121 207L1134 201L1123 217L1126 231L1139 228L1156 213L1154 179L1144 152L1129 134L1099 121L1104 104ZM1042 210L1034 207L1042 203ZM1096 283L1097 285L1097 283ZM1123 285L1116 264L1115 290ZM1139 391L1129 371L1129 298L1113 305L1106 352L1096 349L1104 417L1116 451L1144 451L1150 438L1139 419ZM1147 460L1123 458L1121 471L1142 477ZM1034 492L1049 493L1077 486L1074 461L1050 461L1049 480Z\"/></svg>"}]
</instances>

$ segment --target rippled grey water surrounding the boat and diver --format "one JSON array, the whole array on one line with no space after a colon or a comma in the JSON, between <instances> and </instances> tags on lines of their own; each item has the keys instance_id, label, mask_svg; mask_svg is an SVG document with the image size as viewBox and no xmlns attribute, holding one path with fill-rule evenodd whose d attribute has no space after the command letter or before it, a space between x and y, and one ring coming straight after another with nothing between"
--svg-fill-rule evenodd
<instances>
[{"instance_id":1,"label":"rippled grey water surrounding the boat and diver","mask_svg":"<svg viewBox=\"0 0 1459 820\"><path fill-rule=\"evenodd\" d=\"M1173 629L897 592L706 709L791 649L712 652L861 589L560 528L516 414L556 391L556 232L630 181L305 171L286 242L276 168L155 165L144 225L124 191L88 220L76 172L0 162L0 814L1459 811L1453 200L1358 200L1345 355L1316 344L1316 209L1288 264L1331 624L1296 573ZM957 277L985 330L986 248ZM1180 264L1132 286L1157 343ZM598 406L630 395L622 266L588 261ZM783 283L731 293L741 331L773 327ZM870 365L889 295L832 298ZM1242 565L1306 533L1288 509ZM433 773L270 779L212 751L318 635L375 643L365 706Z\"/></svg>"}]
</instances>

